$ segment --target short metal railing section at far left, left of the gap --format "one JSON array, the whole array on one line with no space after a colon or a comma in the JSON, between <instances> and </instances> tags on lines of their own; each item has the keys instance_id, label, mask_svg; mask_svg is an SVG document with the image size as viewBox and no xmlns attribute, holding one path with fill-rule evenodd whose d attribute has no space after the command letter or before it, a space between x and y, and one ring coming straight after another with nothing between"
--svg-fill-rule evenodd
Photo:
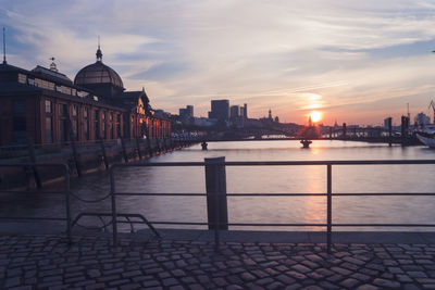
<instances>
[{"instance_id":1,"label":"short metal railing section at far left, left of the gap","mask_svg":"<svg viewBox=\"0 0 435 290\"><path fill-rule=\"evenodd\" d=\"M72 237L71 237L71 229L72 229L72 219L71 219L71 201L70 201L70 168L66 164L60 164L60 163L40 163L40 164L35 164L35 163L20 163L20 164L0 164L0 168L13 168L13 167L22 167L23 169L30 169L34 173L36 173L37 167L51 167L51 168L58 168L64 178L64 185L63 188L59 190L41 190L41 189L35 189L34 191L29 190L14 190L14 189L0 189L0 194L46 194L46 196L52 196L52 194L63 194L65 197L65 215L64 216L54 216L54 217L48 217L48 216L0 216L0 220L51 220L51 222L65 222L65 231L66 231L66 238L69 243L71 244L72 242Z\"/></svg>"}]
</instances>

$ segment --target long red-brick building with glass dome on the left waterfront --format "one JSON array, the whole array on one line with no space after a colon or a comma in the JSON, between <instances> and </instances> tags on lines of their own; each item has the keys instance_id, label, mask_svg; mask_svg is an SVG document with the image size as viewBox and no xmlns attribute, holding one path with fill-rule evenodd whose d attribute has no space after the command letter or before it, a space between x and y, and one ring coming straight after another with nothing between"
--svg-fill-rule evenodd
<instances>
[{"instance_id":1,"label":"long red-brick building with glass dome on the left waterfront","mask_svg":"<svg viewBox=\"0 0 435 290\"><path fill-rule=\"evenodd\" d=\"M72 81L58 72L32 71L0 64L0 146L86 142L117 138L166 138L171 122L154 116L145 89L126 91L115 71L97 62L82 68Z\"/></svg>"}]
</instances>

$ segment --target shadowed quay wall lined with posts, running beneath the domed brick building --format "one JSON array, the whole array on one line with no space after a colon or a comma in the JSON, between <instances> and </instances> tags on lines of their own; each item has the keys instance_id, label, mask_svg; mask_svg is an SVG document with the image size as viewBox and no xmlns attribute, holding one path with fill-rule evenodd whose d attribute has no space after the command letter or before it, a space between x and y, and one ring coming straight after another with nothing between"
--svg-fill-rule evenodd
<instances>
[{"instance_id":1,"label":"shadowed quay wall lined with posts, running beneath the domed brick building","mask_svg":"<svg viewBox=\"0 0 435 290\"><path fill-rule=\"evenodd\" d=\"M196 140L161 139L150 140L115 140L112 142L77 146L76 154L71 146L54 150L55 152L37 154L36 163L67 164L71 177L104 171L114 163L138 162L153 155L163 154L196 143ZM124 143L124 144L123 144ZM0 167L0 190L16 188L36 188L37 179L44 186L64 179L64 173L59 166L23 166L32 163L26 154L21 157L0 159L0 164L16 166Z\"/></svg>"}]
</instances>

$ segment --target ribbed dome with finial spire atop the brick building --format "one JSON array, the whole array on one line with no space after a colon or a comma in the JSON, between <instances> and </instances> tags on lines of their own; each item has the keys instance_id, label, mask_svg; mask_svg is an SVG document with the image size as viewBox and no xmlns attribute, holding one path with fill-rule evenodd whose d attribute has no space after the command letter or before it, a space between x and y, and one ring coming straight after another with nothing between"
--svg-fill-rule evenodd
<instances>
[{"instance_id":1,"label":"ribbed dome with finial spire atop the brick building","mask_svg":"<svg viewBox=\"0 0 435 290\"><path fill-rule=\"evenodd\" d=\"M111 84L124 89L120 75L102 63L100 46L98 46L97 50L97 62L83 67L75 76L74 84L85 87L86 85Z\"/></svg>"}]
</instances>

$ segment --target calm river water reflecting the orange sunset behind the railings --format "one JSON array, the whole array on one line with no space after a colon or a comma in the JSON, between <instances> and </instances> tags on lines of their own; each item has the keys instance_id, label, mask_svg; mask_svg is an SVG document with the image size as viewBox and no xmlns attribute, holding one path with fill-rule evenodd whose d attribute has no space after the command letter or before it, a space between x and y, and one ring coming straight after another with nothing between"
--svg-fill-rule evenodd
<instances>
[{"instance_id":1,"label":"calm river water reflecting the orange sunset behind the railings","mask_svg":"<svg viewBox=\"0 0 435 290\"><path fill-rule=\"evenodd\" d=\"M211 142L208 151L202 151L197 144L154 156L150 161L202 162L204 157L217 156L225 156L226 161L433 160L435 151L425 147L402 148L335 140L313 141L310 149L301 149L298 141L287 140ZM123 192L206 192L203 167L128 167L116 169L115 176L116 189ZM334 165L333 192L434 192L434 176L435 165ZM72 190L83 199L97 199L109 192L109 184L108 174L98 173L74 180ZM228 193L324 193L326 166L227 166L226 184ZM325 197L228 197L227 203L229 223L324 224L326 220ZM42 213L47 216L64 213L59 201L46 198L24 205L15 200L15 207L12 202L9 205L0 205L0 211L9 214ZM87 204L74 200L73 206L74 214L85 211L110 212L109 201ZM333 223L435 224L434 209L435 197L335 197ZM117 210L121 213L142 214L149 220L207 222L203 197L119 197ZM80 223L97 222L84 218ZM324 227L243 229L322 230ZM334 230L433 228L336 227Z\"/></svg>"}]
</instances>

